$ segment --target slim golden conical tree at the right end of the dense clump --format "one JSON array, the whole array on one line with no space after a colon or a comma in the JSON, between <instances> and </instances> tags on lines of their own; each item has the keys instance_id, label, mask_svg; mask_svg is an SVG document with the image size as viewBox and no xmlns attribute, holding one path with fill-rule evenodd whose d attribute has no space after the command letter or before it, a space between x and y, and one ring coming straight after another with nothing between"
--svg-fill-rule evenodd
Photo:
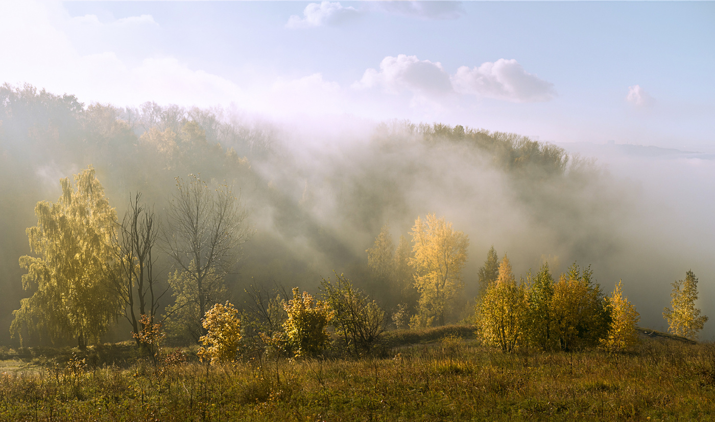
<instances>
[{"instance_id":1,"label":"slim golden conical tree at the right end of the dense clump","mask_svg":"<svg viewBox=\"0 0 715 422\"><path fill-rule=\"evenodd\" d=\"M641 316L628 298L623 297L621 281L608 297L608 306L611 308L611 324L606 338L601 339L601 345L611 352L626 351L638 341L636 324Z\"/></svg>"}]
</instances>

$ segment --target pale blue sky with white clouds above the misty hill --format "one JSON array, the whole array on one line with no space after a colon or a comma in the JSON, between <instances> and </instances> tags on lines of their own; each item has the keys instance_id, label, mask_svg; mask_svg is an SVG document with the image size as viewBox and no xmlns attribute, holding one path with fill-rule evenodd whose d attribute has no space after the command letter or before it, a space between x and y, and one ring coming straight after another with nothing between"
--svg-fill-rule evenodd
<instances>
[{"instance_id":1,"label":"pale blue sky with white clouds above the misty hill","mask_svg":"<svg viewBox=\"0 0 715 422\"><path fill-rule=\"evenodd\" d=\"M715 2L0 2L0 83L715 152Z\"/></svg>"}]
</instances>

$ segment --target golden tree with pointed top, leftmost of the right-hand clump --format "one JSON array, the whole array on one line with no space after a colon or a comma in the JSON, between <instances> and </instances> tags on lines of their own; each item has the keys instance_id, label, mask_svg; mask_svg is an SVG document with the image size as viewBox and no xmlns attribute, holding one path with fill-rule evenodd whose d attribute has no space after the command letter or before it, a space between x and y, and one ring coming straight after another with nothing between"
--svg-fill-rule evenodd
<instances>
[{"instance_id":1,"label":"golden tree with pointed top, leftmost of the right-hand clump","mask_svg":"<svg viewBox=\"0 0 715 422\"><path fill-rule=\"evenodd\" d=\"M526 291L516 283L509 258L504 255L498 277L487 286L479 308L480 336L505 353L516 351L526 323Z\"/></svg>"}]
</instances>

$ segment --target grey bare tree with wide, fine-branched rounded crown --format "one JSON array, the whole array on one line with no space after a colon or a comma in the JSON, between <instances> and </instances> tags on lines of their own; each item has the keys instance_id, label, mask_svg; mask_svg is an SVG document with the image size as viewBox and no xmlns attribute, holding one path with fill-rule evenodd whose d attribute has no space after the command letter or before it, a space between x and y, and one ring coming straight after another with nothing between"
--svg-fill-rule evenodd
<instances>
[{"instance_id":1,"label":"grey bare tree with wide, fine-branched rounded crown","mask_svg":"<svg viewBox=\"0 0 715 422\"><path fill-rule=\"evenodd\" d=\"M203 318L214 305L207 302L216 288L215 282L223 283L233 271L240 258L240 246L253 231L246 224L245 207L230 186L209 187L193 174L186 181L178 177L176 181L177 189L163 226L164 242L177 264L177 273L192 284L190 291L197 296L184 299L187 303L197 302L199 318Z\"/></svg>"}]
</instances>

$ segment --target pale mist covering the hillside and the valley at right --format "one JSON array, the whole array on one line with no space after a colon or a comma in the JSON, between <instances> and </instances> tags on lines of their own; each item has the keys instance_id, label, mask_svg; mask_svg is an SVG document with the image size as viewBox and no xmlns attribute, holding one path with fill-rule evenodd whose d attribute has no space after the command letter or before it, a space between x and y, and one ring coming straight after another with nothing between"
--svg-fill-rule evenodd
<instances>
[{"instance_id":1,"label":"pale mist covering the hillside and the valley at right","mask_svg":"<svg viewBox=\"0 0 715 422\"><path fill-rule=\"evenodd\" d=\"M453 320L476 294L478 268L494 245L500 256L508 253L517 276L543 261L554 273L578 261L592 265L606 292L622 278L641 324L664 328L670 283L688 269L700 278L703 313L715 310L715 161L671 155L601 154L596 161L486 129L390 120L302 126L239 109L80 104L68 94L6 84L0 328L28 294L18 258L29 253L25 229L36 224L34 205L56 201L59 179L89 164L120 217L137 191L162 215L175 177L200 174L234 186L256 230L229 280L239 304L251 284L317 291L321 277L337 271L390 309L396 303L370 277L365 250L383 225L397 239L417 216L436 213L470 239ZM714 332L706 325L702 337ZM6 328L0 342L15 343Z\"/></svg>"}]
</instances>

